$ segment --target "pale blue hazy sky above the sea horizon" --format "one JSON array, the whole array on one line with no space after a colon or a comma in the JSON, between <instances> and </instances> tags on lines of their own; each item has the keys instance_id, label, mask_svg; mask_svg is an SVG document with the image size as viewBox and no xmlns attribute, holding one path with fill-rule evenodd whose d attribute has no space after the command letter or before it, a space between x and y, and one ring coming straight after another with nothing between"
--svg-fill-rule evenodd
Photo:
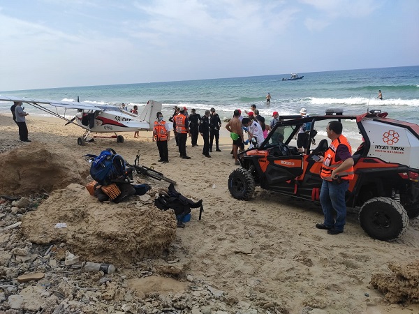
<instances>
[{"instance_id":1,"label":"pale blue hazy sky above the sea horizon","mask_svg":"<svg viewBox=\"0 0 419 314\"><path fill-rule=\"evenodd\" d=\"M419 65L417 0L0 0L0 91Z\"/></svg>"}]
</instances>

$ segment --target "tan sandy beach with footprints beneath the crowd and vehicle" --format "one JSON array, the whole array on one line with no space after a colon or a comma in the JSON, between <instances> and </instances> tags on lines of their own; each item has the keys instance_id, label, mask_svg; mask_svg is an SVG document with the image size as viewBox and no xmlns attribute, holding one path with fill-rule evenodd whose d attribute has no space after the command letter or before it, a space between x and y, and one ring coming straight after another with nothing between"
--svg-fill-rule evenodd
<instances>
[{"instance_id":1,"label":"tan sandy beach with footprints beneath the crowd and vehicle","mask_svg":"<svg viewBox=\"0 0 419 314\"><path fill-rule=\"evenodd\" d=\"M139 152L140 162L177 181L180 193L192 200L202 199L203 219L198 220L198 211L193 209L191 221L184 229L176 230L177 249L172 254L188 265L175 277L178 283L186 282L186 276L191 275L196 282L226 292L233 300L216 301L211 313L419 313L417 304L390 304L370 284L373 274L390 274L389 263L413 262L418 258L418 219L409 222L400 239L385 242L365 234L357 215L351 212L345 232L332 236L314 227L323 221L323 213L313 202L260 188L256 188L249 202L235 200L230 196L227 180L237 166L230 155L231 140L225 123L221 128L221 152L214 149L212 158L205 158L202 137L198 147L191 147L188 139L186 151L191 159L184 160L179 158L172 139L166 164L156 162L159 154L151 132L140 132L139 139L133 137L134 133L121 133L124 143L98 138L81 147L77 137L82 135L82 129L64 124L57 118L29 115L27 126L32 143L28 144L19 142L11 115L0 115L0 153L45 143L83 163L85 154L99 154L111 147L133 163ZM357 146L353 143L353 147ZM149 184L168 186L163 181L151 180ZM93 197L86 204L92 208L100 206ZM119 274L129 277L129 266L122 265ZM281 305L284 311L266 304L278 305L277 308ZM258 311L237 312L246 307Z\"/></svg>"}]
</instances>

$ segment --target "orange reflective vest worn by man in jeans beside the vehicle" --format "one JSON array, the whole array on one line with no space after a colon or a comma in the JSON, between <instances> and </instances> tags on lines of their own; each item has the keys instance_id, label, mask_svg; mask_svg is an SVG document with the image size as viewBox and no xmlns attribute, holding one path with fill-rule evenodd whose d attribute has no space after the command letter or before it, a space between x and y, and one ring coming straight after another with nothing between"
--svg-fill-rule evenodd
<instances>
[{"instance_id":1,"label":"orange reflective vest worn by man in jeans beside the vehicle","mask_svg":"<svg viewBox=\"0 0 419 314\"><path fill-rule=\"evenodd\" d=\"M335 161L336 157L336 150L339 144L344 144L346 147L348 147L349 151L351 152L351 144L349 144L348 140L346 140L346 137L344 135L339 135L336 140L330 144L329 149L325 152L325 158L323 160L323 165L321 167L320 177L321 179L332 181L331 174L332 171L335 170L341 163L344 162L344 160ZM349 169L337 173L339 177L345 180L351 180L353 179L353 167L350 167Z\"/></svg>"}]
</instances>

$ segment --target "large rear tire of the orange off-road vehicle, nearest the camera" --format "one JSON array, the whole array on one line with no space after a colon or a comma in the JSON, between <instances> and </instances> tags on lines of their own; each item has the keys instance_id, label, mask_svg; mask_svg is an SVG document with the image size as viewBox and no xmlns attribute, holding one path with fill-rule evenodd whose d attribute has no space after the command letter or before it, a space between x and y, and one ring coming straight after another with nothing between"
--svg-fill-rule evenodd
<instances>
[{"instance_id":1,"label":"large rear tire of the orange off-road vehicle, nearest the camera","mask_svg":"<svg viewBox=\"0 0 419 314\"><path fill-rule=\"evenodd\" d=\"M401 237L409 225L409 218L402 204L390 197L367 200L362 205L358 218L369 237L383 241Z\"/></svg>"}]
</instances>

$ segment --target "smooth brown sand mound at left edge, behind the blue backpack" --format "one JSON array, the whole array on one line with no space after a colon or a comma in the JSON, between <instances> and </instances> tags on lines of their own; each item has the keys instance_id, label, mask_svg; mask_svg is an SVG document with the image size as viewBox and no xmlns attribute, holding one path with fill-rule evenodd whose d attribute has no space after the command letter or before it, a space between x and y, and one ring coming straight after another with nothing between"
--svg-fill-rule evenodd
<instances>
[{"instance_id":1,"label":"smooth brown sand mound at left edge, behind the blue backpack","mask_svg":"<svg viewBox=\"0 0 419 314\"><path fill-rule=\"evenodd\" d=\"M29 195L71 183L85 184L89 165L59 144L31 142L1 154L0 193Z\"/></svg>"}]
</instances>

